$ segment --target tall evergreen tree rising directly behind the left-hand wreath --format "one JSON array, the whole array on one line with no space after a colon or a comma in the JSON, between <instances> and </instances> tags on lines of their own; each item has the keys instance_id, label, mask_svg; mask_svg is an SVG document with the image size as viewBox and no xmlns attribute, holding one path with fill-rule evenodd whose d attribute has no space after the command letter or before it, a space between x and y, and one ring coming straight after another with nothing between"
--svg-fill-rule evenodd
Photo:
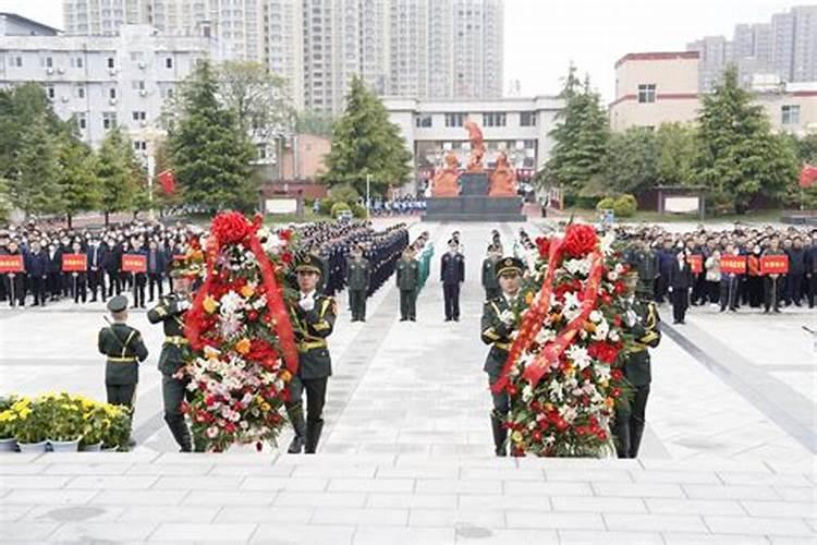
<instances>
[{"instance_id":1,"label":"tall evergreen tree rising directly behind the left-hand wreath","mask_svg":"<svg viewBox=\"0 0 817 545\"><path fill-rule=\"evenodd\" d=\"M203 62L193 73L182 105L168 144L185 202L211 211L254 209L259 196L259 182L249 166L255 147L235 112L219 104L218 81L209 63Z\"/></svg>"}]
</instances>

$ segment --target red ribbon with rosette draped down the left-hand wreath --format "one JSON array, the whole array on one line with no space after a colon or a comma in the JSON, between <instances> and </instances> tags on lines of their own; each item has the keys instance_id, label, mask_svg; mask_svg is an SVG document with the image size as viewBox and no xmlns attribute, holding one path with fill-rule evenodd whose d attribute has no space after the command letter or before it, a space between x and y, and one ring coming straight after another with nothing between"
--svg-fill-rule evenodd
<instances>
[{"instance_id":1,"label":"red ribbon with rosette draped down the left-hand wreath","mask_svg":"<svg viewBox=\"0 0 817 545\"><path fill-rule=\"evenodd\" d=\"M267 295L267 310L272 317L273 328L280 342L286 370L292 375L295 375L298 364L295 335L292 331L292 324L290 323L290 316L283 301L283 289L276 281L272 264L258 240L257 232L261 227L261 222L263 218L260 215L256 215L253 221L249 222L244 215L234 211L221 213L212 220L210 237L207 238L207 276L193 300L193 307L187 312L184 335L193 350L202 350L204 346L202 341L202 323L205 312L204 300L210 292L212 280L218 274L216 263L221 252L221 246L225 243L245 242L258 262L261 284Z\"/></svg>"}]
</instances>

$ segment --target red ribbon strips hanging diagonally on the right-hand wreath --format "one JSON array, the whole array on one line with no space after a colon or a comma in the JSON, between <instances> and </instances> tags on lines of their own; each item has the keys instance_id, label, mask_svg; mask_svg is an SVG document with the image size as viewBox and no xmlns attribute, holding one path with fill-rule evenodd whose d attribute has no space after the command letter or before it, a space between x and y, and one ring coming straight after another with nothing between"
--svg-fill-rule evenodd
<instances>
[{"instance_id":1,"label":"red ribbon strips hanging diagonally on the right-hand wreath","mask_svg":"<svg viewBox=\"0 0 817 545\"><path fill-rule=\"evenodd\" d=\"M573 253L576 242L576 237L572 237L574 233L571 232L571 229L582 229L582 231L577 231L577 234L586 235L584 232L586 227L587 226L569 226L564 239L556 238L550 241L548 247L548 267L545 279L541 282L541 288L534 300L533 306L528 310L522 320L519 335L511 344L511 349L508 351L508 359L502 367L500 378L491 386L491 391L495 393L499 393L510 387L510 373L513 365L516 363L520 355L522 355L522 352L531 347L534 339L541 330L545 316L550 308L550 299L553 293L553 279L556 277L556 271L561 265L565 250L568 250L569 253ZM565 241L568 241L566 245ZM588 243L590 241L582 240L581 242ZM601 282L601 274L603 272L603 258L595 243L590 255L593 256L593 264L590 265L590 270L587 276L587 284L585 286L582 299L582 312L562 330L560 330L556 339L544 347L537 354L536 359L525 367L522 376L528 380L531 386L536 386L545 373L547 373L548 368L559 361L562 352L564 352L570 346L576 332L587 320L590 312L596 307L598 288Z\"/></svg>"}]
</instances>

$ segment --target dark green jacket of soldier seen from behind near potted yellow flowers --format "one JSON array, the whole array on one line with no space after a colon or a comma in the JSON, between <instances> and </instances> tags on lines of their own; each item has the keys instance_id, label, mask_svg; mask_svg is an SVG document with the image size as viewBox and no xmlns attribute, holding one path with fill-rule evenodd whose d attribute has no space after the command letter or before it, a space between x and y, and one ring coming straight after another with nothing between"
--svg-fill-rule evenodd
<instances>
[{"instance_id":1,"label":"dark green jacket of soldier seen from behind near potted yellow flowers","mask_svg":"<svg viewBox=\"0 0 817 545\"><path fill-rule=\"evenodd\" d=\"M108 356L105 384L127 385L139 382L139 364L147 358L147 348L138 330L126 324L113 324L99 330L99 352Z\"/></svg>"}]
</instances>

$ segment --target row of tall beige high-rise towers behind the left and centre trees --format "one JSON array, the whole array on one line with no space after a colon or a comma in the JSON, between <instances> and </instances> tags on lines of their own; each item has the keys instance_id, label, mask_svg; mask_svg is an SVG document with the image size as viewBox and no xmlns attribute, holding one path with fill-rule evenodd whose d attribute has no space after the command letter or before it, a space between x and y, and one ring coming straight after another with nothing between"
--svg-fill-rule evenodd
<instances>
[{"instance_id":1,"label":"row of tall beige high-rise towers behind the left and centre trees","mask_svg":"<svg viewBox=\"0 0 817 545\"><path fill-rule=\"evenodd\" d=\"M379 95L502 96L504 0L63 0L65 33L150 24L217 39L283 76L295 106L343 108L355 75Z\"/></svg>"}]
</instances>

